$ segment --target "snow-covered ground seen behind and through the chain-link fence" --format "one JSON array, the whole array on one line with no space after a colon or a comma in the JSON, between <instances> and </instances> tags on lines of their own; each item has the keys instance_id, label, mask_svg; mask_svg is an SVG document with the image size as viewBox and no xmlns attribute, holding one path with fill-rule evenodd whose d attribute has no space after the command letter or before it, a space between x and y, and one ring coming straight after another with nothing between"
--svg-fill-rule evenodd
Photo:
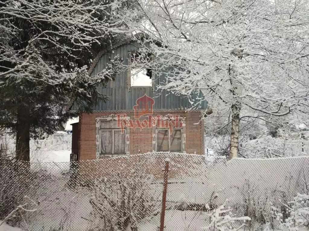
<instances>
[{"instance_id":1,"label":"snow-covered ground seen behind and through the chain-link fence","mask_svg":"<svg viewBox=\"0 0 309 231\"><path fill-rule=\"evenodd\" d=\"M68 183L74 178L69 163L70 138L71 135L64 134L61 139L38 140L31 143L32 168L43 170L37 171L42 173L40 176L48 176L41 178L41 186L38 190L40 195L33 197L36 201L40 201L40 205L37 214L31 218L32 230L50 231L64 227L64 230L78 228L86 231L94 228L92 221L97 218L94 218L89 202L93 191L88 187L78 189L68 187ZM226 161L224 157L213 156L213 153L213 150L208 149L208 156L183 153L140 154L148 158L146 160L153 165L152 170L155 171L155 168L157 170L160 168L155 164L161 162L164 164L164 160L170 155L170 169L178 169L178 173L181 173L176 177L172 175L169 177L165 231L200 231L201 227L208 224L209 217L207 219L205 212L179 210L183 205L217 206L228 199L227 205L237 207L237 215L242 216L246 198L254 197L267 208L271 204L278 206L277 202L273 201L282 199L282 193L289 197L299 192L303 187L303 181L309 179L309 157L306 156L268 159L235 158ZM164 158L159 157L160 155ZM91 168L94 174L98 174L95 171L114 166L112 164L121 158L131 157L85 161L83 167ZM153 158L155 160L151 161ZM153 185L157 193L162 195L162 180L155 181ZM214 196L215 200L210 199ZM160 199L157 203L161 205ZM268 209L265 212L267 216L269 211ZM138 230L157 230L159 221L160 214L157 214L143 221ZM21 229L3 224L0 226L0 231L21 231Z\"/></svg>"}]
</instances>

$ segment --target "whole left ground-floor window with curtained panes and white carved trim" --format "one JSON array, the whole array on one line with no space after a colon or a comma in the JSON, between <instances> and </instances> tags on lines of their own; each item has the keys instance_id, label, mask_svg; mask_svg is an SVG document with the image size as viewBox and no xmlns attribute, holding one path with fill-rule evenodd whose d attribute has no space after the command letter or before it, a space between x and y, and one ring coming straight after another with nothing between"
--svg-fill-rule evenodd
<instances>
[{"instance_id":1,"label":"whole left ground-floor window with curtained panes and white carved trim","mask_svg":"<svg viewBox=\"0 0 309 231\"><path fill-rule=\"evenodd\" d=\"M129 155L129 128L117 127L117 115L95 118L96 159L103 156ZM121 117L121 120L129 117Z\"/></svg>"}]
</instances>

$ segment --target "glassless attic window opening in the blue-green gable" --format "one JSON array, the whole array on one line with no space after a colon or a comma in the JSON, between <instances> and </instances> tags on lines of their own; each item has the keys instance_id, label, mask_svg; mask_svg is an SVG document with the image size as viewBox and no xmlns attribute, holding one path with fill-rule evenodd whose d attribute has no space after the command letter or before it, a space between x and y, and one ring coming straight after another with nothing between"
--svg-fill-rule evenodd
<instances>
[{"instance_id":1,"label":"glassless attic window opening in the blue-green gable","mask_svg":"<svg viewBox=\"0 0 309 231\"><path fill-rule=\"evenodd\" d=\"M130 54L131 87L152 86L152 68L149 63L151 54L131 52Z\"/></svg>"}]
</instances>

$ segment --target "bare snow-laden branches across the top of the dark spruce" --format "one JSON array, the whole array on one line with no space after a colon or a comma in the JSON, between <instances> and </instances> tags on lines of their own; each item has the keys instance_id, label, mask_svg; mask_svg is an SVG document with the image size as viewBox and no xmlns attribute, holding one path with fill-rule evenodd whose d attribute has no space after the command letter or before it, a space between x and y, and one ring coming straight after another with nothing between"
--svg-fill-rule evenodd
<instances>
[{"instance_id":1,"label":"bare snow-laden branches across the top of the dark spruce","mask_svg":"<svg viewBox=\"0 0 309 231\"><path fill-rule=\"evenodd\" d=\"M51 80L50 84L53 84L52 79L61 72L76 71L72 66L81 59L83 52L93 52L94 44L103 46L102 43L115 33L126 31L123 24L126 15L122 14L120 18L116 14L125 8L124 3L88 0L2 2L0 84L10 78L46 83ZM56 63L53 56L71 63Z\"/></svg>"}]
</instances>

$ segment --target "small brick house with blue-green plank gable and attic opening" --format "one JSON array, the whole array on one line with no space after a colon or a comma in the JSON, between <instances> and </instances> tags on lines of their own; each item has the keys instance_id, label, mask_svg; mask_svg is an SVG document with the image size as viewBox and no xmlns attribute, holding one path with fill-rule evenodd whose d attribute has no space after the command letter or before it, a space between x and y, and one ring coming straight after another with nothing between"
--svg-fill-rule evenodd
<instances>
[{"instance_id":1,"label":"small brick house with blue-green plank gable and attic opening","mask_svg":"<svg viewBox=\"0 0 309 231\"><path fill-rule=\"evenodd\" d=\"M92 114L79 114L78 141L74 141L75 146L79 144L79 160L152 151L204 153L201 112L207 102L202 100L203 94L192 95L201 103L187 112L191 107L187 97L158 89L165 82L165 73L130 67L140 54L138 47L136 41L124 41L112 48L114 52L99 52L91 65L89 73L95 75L119 55L127 68L105 88L99 87L98 91L108 96L107 102L99 102ZM72 112L77 110L74 104L70 107Z\"/></svg>"}]
</instances>

